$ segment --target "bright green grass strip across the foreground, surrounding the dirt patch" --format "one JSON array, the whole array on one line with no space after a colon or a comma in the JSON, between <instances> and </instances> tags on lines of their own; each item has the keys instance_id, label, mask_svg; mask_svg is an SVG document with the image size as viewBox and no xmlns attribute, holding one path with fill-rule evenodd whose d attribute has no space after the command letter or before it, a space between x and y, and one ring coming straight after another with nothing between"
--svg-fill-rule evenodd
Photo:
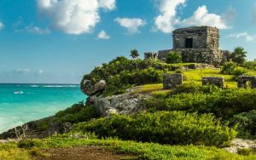
<instances>
[{"instance_id":1,"label":"bright green grass strip across the foreground, surrounding the dirt patch","mask_svg":"<svg viewBox=\"0 0 256 160\"><path fill-rule=\"evenodd\" d=\"M0 145L2 159L28 159L32 155L44 155L48 148L67 148L72 146L102 146L117 153L131 153L146 159L255 159L255 156L244 157L224 149L206 146L167 146L154 143L139 143L122 140L88 140L74 139L70 136L54 136L44 140L26 140L21 142L22 148L16 144ZM24 145L25 144L25 145ZM8 150L5 148L9 147ZM2 154L2 155L1 155ZM4 154L4 156L3 156ZM2 156L2 157L1 157ZM4 158L3 158L4 157Z\"/></svg>"}]
</instances>

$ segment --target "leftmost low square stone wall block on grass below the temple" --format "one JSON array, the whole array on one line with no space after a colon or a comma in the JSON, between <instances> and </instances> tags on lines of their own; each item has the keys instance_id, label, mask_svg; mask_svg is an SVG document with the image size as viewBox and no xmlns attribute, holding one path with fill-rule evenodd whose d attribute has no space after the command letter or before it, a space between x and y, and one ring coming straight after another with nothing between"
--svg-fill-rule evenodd
<instances>
[{"instance_id":1,"label":"leftmost low square stone wall block on grass below the temple","mask_svg":"<svg viewBox=\"0 0 256 160\"><path fill-rule=\"evenodd\" d=\"M183 84L183 74L180 74L180 73L164 74L164 89L173 89L182 84Z\"/></svg>"}]
</instances>

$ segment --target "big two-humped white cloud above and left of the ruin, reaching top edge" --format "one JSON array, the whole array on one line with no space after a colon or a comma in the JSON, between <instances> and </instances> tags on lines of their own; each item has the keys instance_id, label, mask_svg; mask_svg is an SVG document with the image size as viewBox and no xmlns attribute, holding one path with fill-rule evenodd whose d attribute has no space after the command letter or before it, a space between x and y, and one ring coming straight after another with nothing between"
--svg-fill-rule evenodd
<instances>
[{"instance_id":1,"label":"big two-humped white cloud above and left of the ruin, reaching top edge","mask_svg":"<svg viewBox=\"0 0 256 160\"><path fill-rule=\"evenodd\" d=\"M177 17L177 9L184 6L186 0L163 0L158 2L160 2L160 14L154 20L154 29L156 30L170 33L178 26L216 26L219 29L228 28L222 16L209 14L205 5L196 9L189 18L180 20Z\"/></svg>"}]
</instances>

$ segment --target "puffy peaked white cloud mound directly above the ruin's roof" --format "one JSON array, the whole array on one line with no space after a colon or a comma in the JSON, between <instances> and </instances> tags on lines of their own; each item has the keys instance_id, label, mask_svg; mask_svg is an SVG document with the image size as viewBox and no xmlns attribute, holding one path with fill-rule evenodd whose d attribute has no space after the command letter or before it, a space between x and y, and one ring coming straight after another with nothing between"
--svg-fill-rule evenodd
<instances>
[{"instance_id":1,"label":"puffy peaked white cloud mound directly above the ruin's roof","mask_svg":"<svg viewBox=\"0 0 256 160\"><path fill-rule=\"evenodd\" d=\"M216 26L218 29L227 29L222 17L218 14L209 14L207 6L203 5L195 10L194 14L188 19L180 22L181 26Z\"/></svg>"}]
</instances>

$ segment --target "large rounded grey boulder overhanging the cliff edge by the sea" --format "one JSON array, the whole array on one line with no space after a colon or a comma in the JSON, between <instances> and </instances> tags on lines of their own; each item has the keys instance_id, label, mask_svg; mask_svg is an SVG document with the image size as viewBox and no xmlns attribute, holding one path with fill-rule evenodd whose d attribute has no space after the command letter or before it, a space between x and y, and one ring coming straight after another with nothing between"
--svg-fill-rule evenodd
<instances>
[{"instance_id":1,"label":"large rounded grey boulder overhanging the cliff edge by the sea","mask_svg":"<svg viewBox=\"0 0 256 160\"><path fill-rule=\"evenodd\" d=\"M107 83L104 80L92 84L90 80L84 79L81 83L81 90L84 94L91 96L106 89Z\"/></svg>"}]
</instances>

